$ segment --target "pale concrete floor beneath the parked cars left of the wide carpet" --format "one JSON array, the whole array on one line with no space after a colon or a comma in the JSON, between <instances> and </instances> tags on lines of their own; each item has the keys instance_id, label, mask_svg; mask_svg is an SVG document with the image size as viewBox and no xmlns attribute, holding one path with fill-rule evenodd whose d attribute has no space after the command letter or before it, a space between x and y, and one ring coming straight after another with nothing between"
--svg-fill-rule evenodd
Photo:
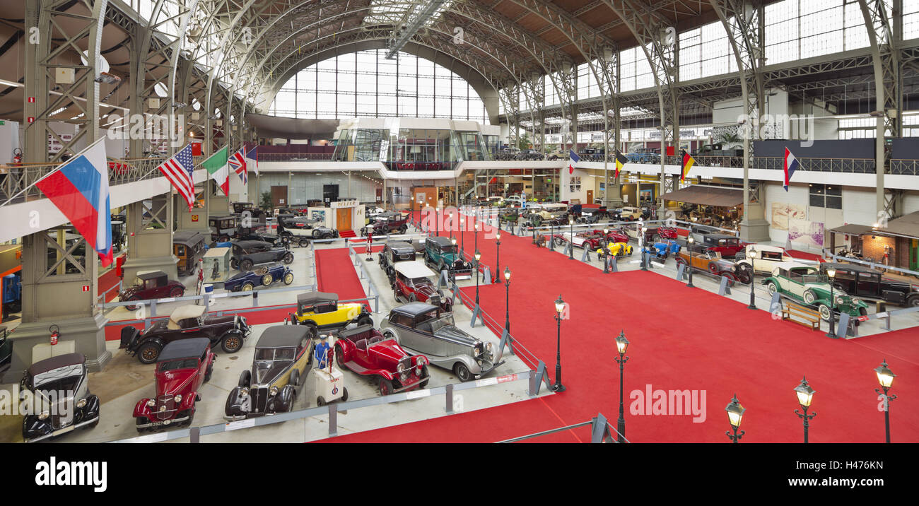
<instances>
[{"instance_id":1,"label":"pale concrete floor beneath the parked cars left of the wide carpet","mask_svg":"<svg viewBox=\"0 0 919 506\"><path fill-rule=\"evenodd\" d=\"M341 247L341 242L334 244L317 244L316 249ZM294 269L295 281L292 287L302 285L312 285L312 253L310 249L294 248L295 260L290 265ZM360 262L367 265L370 279L362 279L362 285L365 292L369 289L369 282L372 281L376 287L380 287L380 309L374 314L374 321L379 327L380 321L389 313L389 310L401 303L397 303L389 288L386 276L380 270L377 264L379 253L374 253L372 260L365 260L366 254L359 255ZM357 267L355 267L357 270ZM194 276L188 276L183 279L187 286L194 289ZM474 278L471 281L462 281L462 285L469 286L475 284ZM272 287L259 288L259 290L284 287L283 284L275 284ZM220 291L220 290L219 290ZM291 290L288 292L265 293L259 296L259 305L277 305L288 304L296 300L296 295L301 293L302 289ZM189 292L193 293L193 292ZM187 303L187 302L185 302ZM170 302L159 305L157 313L167 315L172 309L182 305L183 302ZM234 309L252 307L252 298L218 298L210 305L210 310L215 309ZM372 302L371 302L372 307ZM133 311L118 308L111 310L107 317L111 320L130 319L134 315ZM499 337L487 328L477 326L471 328L471 310L456 305L454 316L457 326L465 332L482 339L485 342L494 343L495 347L499 342ZM215 363L213 376L209 383L206 383L200 389L201 401L198 404L198 410L195 414L193 424L196 426L212 425L224 423L223 408L227 395L230 390L237 384L239 375L245 369L252 365L253 354L255 353L255 343L261 332L271 324L255 325L252 335L246 339L244 347L236 354L225 354L220 349L216 350L217 362ZM101 422L92 430L75 431L62 436L60 442L66 443L101 443L138 436L134 428L134 420L131 412L134 405L143 398L149 398L154 395L153 384L153 365L142 365L136 358L129 357L118 349L117 341L107 343L109 351L112 352L113 360L104 371L89 374L89 388L99 396L102 401ZM514 373L528 371L530 367L524 364L516 355L505 354L503 359L505 364L499 366L489 377L504 376ZM376 383L369 377L361 377L351 371L345 371L346 388L348 389L348 399L368 399L379 396ZM453 377L451 371L439 367L430 367L431 379L428 388L441 387L451 383L458 383ZM310 373L306 378L301 391L299 392L295 410L302 410L316 406L314 395L314 373ZM0 388L11 389L12 385L0 385ZM481 388L463 390L454 394L454 410L480 410L490 408L511 402L531 399L527 394L528 381L516 380L500 383ZM541 390L540 395L552 395L545 388ZM338 433L355 433L367 431L380 427L390 426L399 423L416 422L446 415L445 399L442 395L425 397L420 399L405 400L399 403L383 404L371 406L357 410L340 411L338 413ZM268 426L245 429L244 432L217 433L201 438L202 442L289 442L301 443L314 441L328 437L327 416L317 416L308 419L295 420L290 422L279 422ZM21 442L21 423L20 416L0 417L0 442ZM174 441L187 441L186 439L176 439Z\"/></svg>"}]
</instances>

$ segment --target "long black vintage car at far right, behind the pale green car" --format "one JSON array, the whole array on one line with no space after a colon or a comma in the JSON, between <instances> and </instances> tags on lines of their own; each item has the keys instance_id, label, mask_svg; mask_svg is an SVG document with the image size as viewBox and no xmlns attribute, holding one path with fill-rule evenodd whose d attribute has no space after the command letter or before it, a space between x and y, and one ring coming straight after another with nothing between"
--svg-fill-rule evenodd
<instances>
[{"instance_id":1,"label":"long black vintage car at far right, behind the pale green car","mask_svg":"<svg viewBox=\"0 0 919 506\"><path fill-rule=\"evenodd\" d=\"M905 281L883 277L878 271L858 264L820 264L820 271L834 269L833 286L853 297L883 300L898 306L919 306L919 288Z\"/></svg>"}]
</instances>

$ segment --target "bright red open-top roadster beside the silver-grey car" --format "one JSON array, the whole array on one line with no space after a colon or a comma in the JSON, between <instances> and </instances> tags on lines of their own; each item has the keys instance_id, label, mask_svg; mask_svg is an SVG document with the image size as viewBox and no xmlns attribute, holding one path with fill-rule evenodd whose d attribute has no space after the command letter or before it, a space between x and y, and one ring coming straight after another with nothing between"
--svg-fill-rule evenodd
<instances>
[{"instance_id":1,"label":"bright red open-top roadster beside the silver-grey car","mask_svg":"<svg viewBox=\"0 0 919 506\"><path fill-rule=\"evenodd\" d=\"M338 332L335 363L361 375L377 378L380 396L425 388L431 375L423 354L410 355L394 339L385 339L372 325Z\"/></svg>"}]
</instances>

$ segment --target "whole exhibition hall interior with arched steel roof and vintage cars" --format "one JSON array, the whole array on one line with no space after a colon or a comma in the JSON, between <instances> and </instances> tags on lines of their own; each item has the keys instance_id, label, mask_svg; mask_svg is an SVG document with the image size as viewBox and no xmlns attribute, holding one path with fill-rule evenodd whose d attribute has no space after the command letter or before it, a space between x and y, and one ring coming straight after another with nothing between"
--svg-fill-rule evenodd
<instances>
[{"instance_id":1,"label":"whole exhibition hall interior with arched steel roof and vintage cars","mask_svg":"<svg viewBox=\"0 0 919 506\"><path fill-rule=\"evenodd\" d=\"M917 136L915 0L2 0L0 442L919 442Z\"/></svg>"}]
</instances>

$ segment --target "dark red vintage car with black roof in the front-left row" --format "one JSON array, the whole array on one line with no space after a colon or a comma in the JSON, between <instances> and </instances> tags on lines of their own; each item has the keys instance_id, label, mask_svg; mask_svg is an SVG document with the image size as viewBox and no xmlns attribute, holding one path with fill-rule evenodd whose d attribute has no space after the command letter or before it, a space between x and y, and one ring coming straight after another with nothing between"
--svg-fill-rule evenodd
<instances>
[{"instance_id":1,"label":"dark red vintage car with black roof in the front-left row","mask_svg":"<svg viewBox=\"0 0 919 506\"><path fill-rule=\"evenodd\" d=\"M210 339L196 337L168 343L156 360L156 397L141 399L134 406L138 432L172 425L191 425L199 389L210 381L217 357Z\"/></svg>"}]
</instances>

